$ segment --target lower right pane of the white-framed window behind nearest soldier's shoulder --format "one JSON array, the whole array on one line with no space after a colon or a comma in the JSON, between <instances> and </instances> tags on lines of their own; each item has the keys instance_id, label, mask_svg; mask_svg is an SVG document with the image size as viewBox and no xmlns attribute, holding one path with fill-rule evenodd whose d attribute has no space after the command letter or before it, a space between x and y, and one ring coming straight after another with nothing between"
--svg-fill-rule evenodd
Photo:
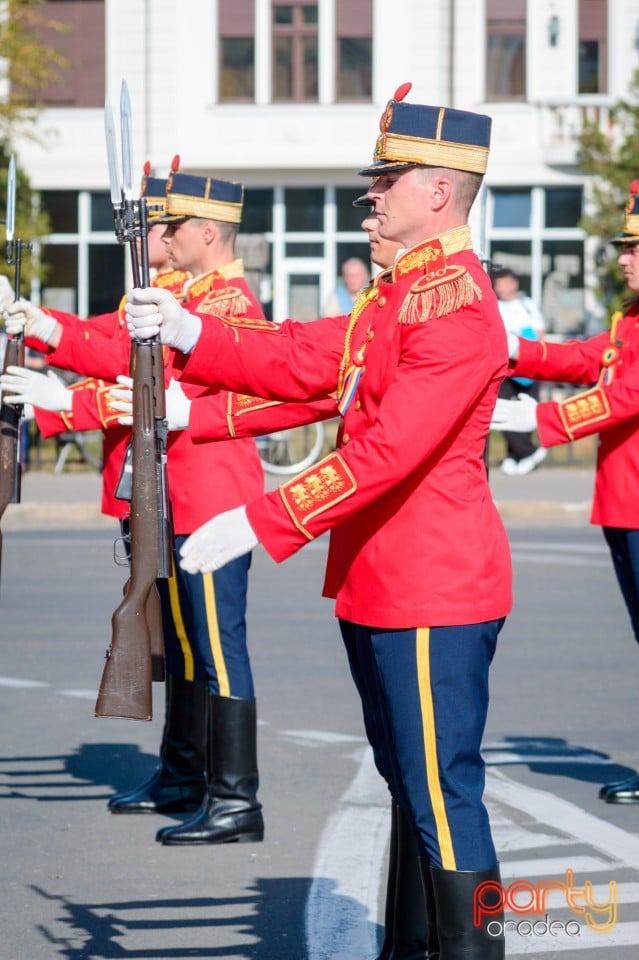
<instances>
[{"instance_id":1,"label":"lower right pane of the white-framed window behind nearest soldier's shoulder","mask_svg":"<svg viewBox=\"0 0 639 960\"><path fill-rule=\"evenodd\" d=\"M545 240L542 246L541 309L552 333L584 331L584 245L580 240Z\"/></svg>"}]
</instances>

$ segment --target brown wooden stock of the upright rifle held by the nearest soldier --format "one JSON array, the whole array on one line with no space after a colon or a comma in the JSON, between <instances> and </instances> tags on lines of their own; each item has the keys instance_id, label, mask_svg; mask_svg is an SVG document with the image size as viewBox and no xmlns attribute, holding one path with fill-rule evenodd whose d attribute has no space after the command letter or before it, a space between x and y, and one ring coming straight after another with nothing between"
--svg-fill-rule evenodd
<instances>
[{"instance_id":1,"label":"brown wooden stock of the upright rifle held by the nearest soldier","mask_svg":"<svg viewBox=\"0 0 639 960\"><path fill-rule=\"evenodd\" d=\"M160 565L157 514L157 437L154 380L164 389L162 351L135 343L133 371L133 489L131 494L131 576L112 617L112 639L95 705L96 717L150 720L153 716L153 656L149 609ZM160 365L154 367L154 357ZM154 630L155 632L155 630Z\"/></svg>"}]
</instances>

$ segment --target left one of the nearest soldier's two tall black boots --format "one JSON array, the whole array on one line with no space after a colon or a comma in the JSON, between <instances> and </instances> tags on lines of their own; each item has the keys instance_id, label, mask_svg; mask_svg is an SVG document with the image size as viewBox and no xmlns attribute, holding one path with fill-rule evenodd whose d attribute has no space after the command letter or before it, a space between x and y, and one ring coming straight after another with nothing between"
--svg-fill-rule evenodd
<instances>
[{"instance_id":1,"label":"left one of the nearest soldier's two tall black boots","mask_svg":"<svg viewBox=\"0 0 639 960\"><path fill-rule=\"evenodd\" d=\"M430 886L430 878L429 878ZM434 913L427 910L417 840L401 807L392 806L385 937L377 960L439 956Z\"/></svg>"}]
</instances>

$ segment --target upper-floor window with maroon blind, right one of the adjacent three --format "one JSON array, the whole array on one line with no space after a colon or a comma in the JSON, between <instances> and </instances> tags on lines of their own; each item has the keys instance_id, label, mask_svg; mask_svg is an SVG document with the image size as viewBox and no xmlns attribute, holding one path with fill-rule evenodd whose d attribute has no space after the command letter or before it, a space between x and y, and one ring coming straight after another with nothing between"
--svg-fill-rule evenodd
<instances>
[{"instance_id":1,"label":"upper-floor window with maroon blind, right one of the adjacent three","mask_svg":"<svg viewBox=\"0 0 639 960\"><path fill-rule=\"evenodd\" d=\"M373 92L372 0L337 0L336 97L370 100Z\"/></svg>"}]
</instances>

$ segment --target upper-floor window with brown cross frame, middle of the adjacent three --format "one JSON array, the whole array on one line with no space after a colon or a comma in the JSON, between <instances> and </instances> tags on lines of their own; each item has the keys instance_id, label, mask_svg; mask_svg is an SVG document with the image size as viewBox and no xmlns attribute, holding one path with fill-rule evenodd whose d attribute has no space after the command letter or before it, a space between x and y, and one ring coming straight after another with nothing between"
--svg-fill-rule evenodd
<instances>
[{"instance_id":1,"label":"upper-floor window with brown cross frame, middle of the adjacent three","mask_svg":"<svg viewBox=\"0 0 639 960\"><path fill-rule=\"evenodd\" d=\"M273 0L273 99L318 98L318 5Z\"/></svg>"}]
</instances>

